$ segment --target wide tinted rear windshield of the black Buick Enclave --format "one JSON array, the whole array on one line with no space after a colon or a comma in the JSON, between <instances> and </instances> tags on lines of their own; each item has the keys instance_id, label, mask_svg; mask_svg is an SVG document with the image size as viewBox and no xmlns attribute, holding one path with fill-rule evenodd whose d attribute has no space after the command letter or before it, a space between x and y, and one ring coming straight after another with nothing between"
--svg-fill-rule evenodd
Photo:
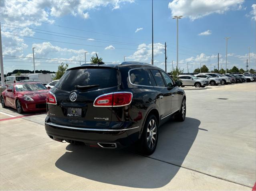
<instances>
[{"instance_id":1,"label":"wide tinted rear windshield of the black Buick Enclave","mask_svg":"<svg viewBox=\"0 0 256 191\"><path fill-rule=\"evenodd\" d=\"M72 91L75 85L99 85L97 89L118 85L117 70L109 68L87 68L68 70L55 85L58 89ZM92 90L92 89L91 89Z\"/></svg>"}]
</instances>

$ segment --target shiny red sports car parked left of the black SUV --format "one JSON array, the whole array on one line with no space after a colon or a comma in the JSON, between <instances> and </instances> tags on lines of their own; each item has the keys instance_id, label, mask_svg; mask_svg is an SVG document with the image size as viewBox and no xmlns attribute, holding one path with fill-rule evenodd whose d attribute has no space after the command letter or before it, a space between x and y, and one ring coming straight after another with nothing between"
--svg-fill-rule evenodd
<instances>
[{"instance_id":1,"label":"shiny red sports car parked left of the black SUV","mask_svg":"<svg viewBox=\"0 0 256 191\"><path fill-rule=\"evenodd\" d=\"M1 93L2 107L12 107L18 113L46 110L48 89L41 83L15 83Z\"/></svg>"}]
</instances>

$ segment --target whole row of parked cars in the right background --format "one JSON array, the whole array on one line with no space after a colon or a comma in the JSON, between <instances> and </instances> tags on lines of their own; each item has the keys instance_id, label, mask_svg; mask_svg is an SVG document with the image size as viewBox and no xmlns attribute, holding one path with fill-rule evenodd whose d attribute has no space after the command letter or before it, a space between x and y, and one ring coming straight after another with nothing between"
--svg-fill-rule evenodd
<instances>
[{"instance_id":1,"label":"whole row of parked cars in the right background","mask_svg":"<svg viewBox=\"0 0 256 191\"><path fill-rule=\"evenodd\" d=\"M181 87L195 86L206 87L208 85L226 85L231 83L243 83L256 81L256 74L218 74L218 73L199 73L199 74L181 74L179 79L182 82Z\"/></svg>"}]
</instances>

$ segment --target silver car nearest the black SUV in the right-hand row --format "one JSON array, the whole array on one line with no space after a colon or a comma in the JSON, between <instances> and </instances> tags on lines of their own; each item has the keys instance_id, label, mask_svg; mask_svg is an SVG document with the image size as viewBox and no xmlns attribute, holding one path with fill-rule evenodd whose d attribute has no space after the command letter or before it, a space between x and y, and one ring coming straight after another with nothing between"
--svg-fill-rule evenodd
<instances>
[{"instance_id":1,"label":"silver car nearest the black SUV in the right-hand row","mask_svg":"<svg viewBox=\"0 0 256 191\"><path fill-rule=\"evenodd\" d=\"M182 82L182 86L195 86L197 88L199 87L206 87L209 85L208 79L199 79L196 76L193 75L179 75L179 79Z\"/></svg>"}]
</instances>

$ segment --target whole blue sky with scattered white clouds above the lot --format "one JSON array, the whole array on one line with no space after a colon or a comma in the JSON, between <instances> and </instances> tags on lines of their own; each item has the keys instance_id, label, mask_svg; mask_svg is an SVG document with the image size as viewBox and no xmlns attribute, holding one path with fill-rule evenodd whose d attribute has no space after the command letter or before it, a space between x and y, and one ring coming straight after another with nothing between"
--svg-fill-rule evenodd
<instances>
[{"instance_id":1,"label":"whole blue sky with scattered white clouds above the lot","mask_svg":"<svg viewBox=\"0 0 256 191\"><path fill-rule=\"evenodd\" d=\"M172 16L183 15L179 20L179 67L184 72L187 62L189 72L200 63L214 69L218 53L224 68L227 36L231 37L228 68L245 69L250 46L250 68L256 69L256 1L154 0L153 4L155 65L164 69L165 42L167 71L171 61L175 65L177 28ZM85 51L87 61L97 52L105 62L122 62L126 56L126 61L150 63L151 0L11 0L1 1L0 8L7 72L33 70L32 59L26 58L32 57L32 47L36 58L45 59L36 59L38 70L56 71L62 61L77 66L84 61Z\"/></svg>"}]
</instances>

